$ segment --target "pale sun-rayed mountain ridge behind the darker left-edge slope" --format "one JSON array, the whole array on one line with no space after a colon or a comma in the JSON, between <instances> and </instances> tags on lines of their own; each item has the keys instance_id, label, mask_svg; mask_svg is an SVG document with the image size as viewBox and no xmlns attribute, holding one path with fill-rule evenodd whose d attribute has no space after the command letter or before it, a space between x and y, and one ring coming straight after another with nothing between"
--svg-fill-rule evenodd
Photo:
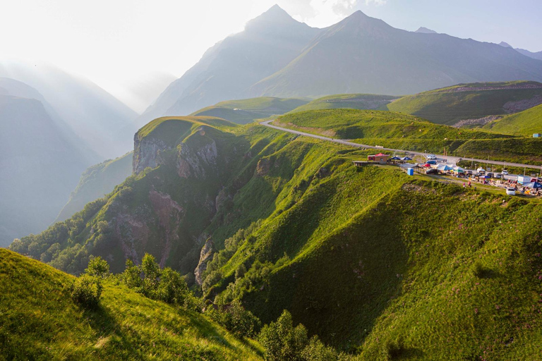
<instances>
[{"instance_id":1,"label":"pale sun-rayed mountain ridge behind the darker left-edge slope","mask_svg":"<svg viewBox=\"0 0 542 361\"><path fill-rule=\"evenodd\" d=\"M137 114L89 80L46 65L0 63L0 76L34 87L73 131L104 158L129 151ZM121 133L119 133L121 132Z\"/></svg>"}]
</instances>

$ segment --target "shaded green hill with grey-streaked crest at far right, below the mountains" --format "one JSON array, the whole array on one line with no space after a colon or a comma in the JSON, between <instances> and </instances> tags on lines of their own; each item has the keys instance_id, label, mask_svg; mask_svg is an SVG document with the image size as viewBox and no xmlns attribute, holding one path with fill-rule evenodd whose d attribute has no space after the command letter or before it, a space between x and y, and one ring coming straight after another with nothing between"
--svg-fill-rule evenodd
<instances>
[{"instance_id":1,"label":"shaded green hill with grey-streaked crest at far right, below the mountains","mask_svg":"<svg viewBox=\"0 0 542 361\"><path fill-rule=\"evenodd\" d=\"M539 82L476 82L402 97L386 108L452 125L462 119L515 113L541 102Z\"/></svg>"}]
</instances>

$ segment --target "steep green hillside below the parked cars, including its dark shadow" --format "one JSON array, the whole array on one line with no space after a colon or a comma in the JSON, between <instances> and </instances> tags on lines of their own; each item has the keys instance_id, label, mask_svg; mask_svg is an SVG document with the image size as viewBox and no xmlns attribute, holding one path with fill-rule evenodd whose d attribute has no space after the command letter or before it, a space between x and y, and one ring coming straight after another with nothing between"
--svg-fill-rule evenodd
<instances>
[{"instance_id":1,"label":"steep green hillside below the parked cars, including its dark shadow","mask_svg":"<svg viewBox=\"0 0 542 361\"><path fill-rule=\"evenodd\" d=\"M393 169L356 171L332 145L296 140L279 153L244 190L259 197L278 185L274 212L223 267L227 283L241 262L287 255L240 293L264 322L287 308L327 342L363 345L366 360L396 339L405 355L431 360L452 350L457 359L536 355L540 204L412 183ZM322 166L332 173L320 179Z\"/></svg>"}]
</instances>

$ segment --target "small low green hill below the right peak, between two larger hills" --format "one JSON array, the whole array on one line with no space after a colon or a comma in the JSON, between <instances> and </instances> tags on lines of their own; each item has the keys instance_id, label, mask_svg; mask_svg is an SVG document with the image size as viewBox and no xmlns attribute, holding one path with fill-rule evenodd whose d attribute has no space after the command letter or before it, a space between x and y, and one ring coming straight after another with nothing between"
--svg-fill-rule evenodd
<instances>
[{"instance_id":1,"label":"small low green hill below the right peak, between two larger hills","mask_svg":"<svg viewBox=\"0 0 542 361\"><path fill-rule=\"evenodd\" d=\"M378 109L397 98L391 95L378 94L336 94L318 98L308 104L298 106L291 113L319 109Z\"/></svg>"}]
</instances>

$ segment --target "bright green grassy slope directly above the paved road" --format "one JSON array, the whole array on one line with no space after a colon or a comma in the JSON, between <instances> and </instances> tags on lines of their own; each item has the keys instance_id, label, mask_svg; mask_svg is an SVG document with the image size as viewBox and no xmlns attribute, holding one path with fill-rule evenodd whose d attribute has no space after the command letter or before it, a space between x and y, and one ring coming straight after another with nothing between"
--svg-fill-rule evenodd
<instances>
[{"instance_id":1,"label":"bright green grassy slope directly above the paved road","mask_svg":"<svg viewBox=\"0 0 542 361\"><path fill-rule=\"evenodd\" d=\"M286 114L275 121L286 128L353 139L367 145L427 151L459 157L487 158L539 164L542 142L487 130L457 129L388 111L327 109Z\"/></svg>"}]
</instances>

